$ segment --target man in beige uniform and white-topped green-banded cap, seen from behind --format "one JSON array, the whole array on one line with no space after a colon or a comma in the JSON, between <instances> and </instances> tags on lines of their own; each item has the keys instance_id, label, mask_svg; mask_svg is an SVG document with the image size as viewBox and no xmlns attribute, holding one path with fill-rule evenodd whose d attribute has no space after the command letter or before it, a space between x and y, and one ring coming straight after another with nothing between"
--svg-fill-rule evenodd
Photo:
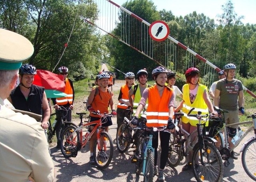
<instances>
[{"instance_id":1,"label":"man in beige uniform and white-topped green-banded cap, seen from behind","mask_svg":"<svg viewBox=\"0 0 256 182\"><path fill-rule=\"evenodd\" d=\"M0 176L5 182L54 180L54 165L41 124L5 105L22 61L33 52L28 39L0 29Z\"/></svg>"}]
</instances>

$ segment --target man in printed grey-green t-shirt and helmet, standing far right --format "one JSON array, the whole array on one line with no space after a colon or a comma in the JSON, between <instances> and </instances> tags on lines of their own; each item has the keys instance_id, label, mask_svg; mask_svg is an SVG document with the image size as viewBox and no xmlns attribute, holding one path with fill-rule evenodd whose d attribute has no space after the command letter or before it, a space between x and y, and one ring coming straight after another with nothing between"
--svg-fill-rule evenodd
<instances>
[{"instance_id":1,"label":"man in printed grey-green t-shirt and helmet, standing far right","mask_svg":"<svg viewBox=\"0 0 256 182\"><path fill-rule=\"evenodd\" d=\"M244 88L242 82L235 79L236 66L234 64L226 64L224 66L224 73L226 74L226 78L219 80L216 84L214 104L215 106L228 110L228 113L224 113L225 122L227 124L238 123L238 115L244 114ZM240 106L239 109L238 104ZM228 142L230 148L232 148L233 144L231 140L236 136L236 128L238 128L238 126L228 128ZM230 154L231 158L238 159L233 151Z\"/></svg>"}]
</instances>

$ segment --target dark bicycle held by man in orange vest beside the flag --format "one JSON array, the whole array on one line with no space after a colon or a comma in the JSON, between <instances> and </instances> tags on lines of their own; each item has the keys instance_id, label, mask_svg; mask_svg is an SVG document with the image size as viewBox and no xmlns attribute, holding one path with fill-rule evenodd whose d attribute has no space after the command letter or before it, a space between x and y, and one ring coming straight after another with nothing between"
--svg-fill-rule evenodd
<instances>
[{"instance_id":1,"label":"dark bicycle held by man in orange vest beside the flag","mask_svg":"<svg viewBox=\"0 0 256 182\"><path fill-rule=\"evenodd\" d=\"M60 106L60 108L59 108L59 110L64 110L64 111L66 111L66 113L68 113L68 110L69 110L70 108L65 108L64 106ZM56 113L52 113L51 115L50 115L50 117L51 116L54 116L54 115L56 115ZM51 122L50 122L50 120L47 122L47 124L48 124L48 130L47 130L47 136L46 136L46 138L47 138L47 141L48 141L48 143L52 143L52 137L55 135L55 132L56 132L56 129L57 129L57 127L58 127L58 125L59 124L61 124L61 127L60 127L60 131L58 132L58 136L56 136L56 138L57 138L57 140L58 140L58 138L60 139L60 136L62 135L62 132L64 131L64 129L67 127L67 126L75 126L75 127L77 127L77 125L76 124L74 124L74 123L72 123L72 122L67 122L66 121L66 115L65 114L63 114L62 112L61 112L61 118L56 122L56 124L55 124L55 126L54 127L52 127L52 124L51 124Z\"/></svg>"}]
</instances>

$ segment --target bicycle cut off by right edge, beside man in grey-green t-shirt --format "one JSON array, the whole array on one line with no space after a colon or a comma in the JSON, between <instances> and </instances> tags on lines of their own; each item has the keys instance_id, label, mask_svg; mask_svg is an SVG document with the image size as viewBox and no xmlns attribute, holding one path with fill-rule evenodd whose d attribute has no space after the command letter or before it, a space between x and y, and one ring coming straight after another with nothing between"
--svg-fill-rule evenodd
<instances>
[{"instance_id":1,"label":"bicycle cut off by right edge, beside man in grey-green t-shirt","mask_svg":"<svg viewBox=\"0 0 256 182\"><path fill-rule=\"evenodd\" d=\"M245 122L239 122L239 123L234 123L234 124L226 124L225 118L224 118L224 112L228 112L227 110L215 107L214 108L216 111L220 112L223 120L221 120L221 122L223 123L222 128L220 127L215 127L214 130L214 134L213 137L216 138L216 140L218 140L218 142L220 142L220 154L222 156L222 159L224 160L224 165L227 167L230 162L229 162L229 158L230 158L230 152L232 152L234 150L234 148L236 148L236 146L238 146L238 144L242 141L242 139L251 131L254 130L254 134L255 136L253 136L252 138L249 138L244 145L242 146L242 148L240 149L240 152L242 152L242 165L243 168L246 172L246 174L252 178L254 181L256 181L256 171L255 171L255 156L253 155L256 154L256 145L254 144L254 142L256 142L256 114L252 114L250 116L247 116L247 118L252 118L252 121L245 121ZM240 126L243 124L252 124L246 131L243 132L242 136L240 136L240 138L238 138L238 140L235 142L235 144L233 145L232 148L229 147L229 143L228 143L228 128L229 126ZM222 134L222 131L224 130L224 136ZM255 145L255 146L254 146ZM250 156L248 156L250 155Z\"/></svg>"}]
</instances>

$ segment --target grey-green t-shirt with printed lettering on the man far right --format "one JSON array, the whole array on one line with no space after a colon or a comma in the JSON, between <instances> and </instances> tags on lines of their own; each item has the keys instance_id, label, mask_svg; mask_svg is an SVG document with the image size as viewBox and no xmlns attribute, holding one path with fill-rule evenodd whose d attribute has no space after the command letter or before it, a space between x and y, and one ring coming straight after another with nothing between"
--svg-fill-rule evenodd
<instances>
[{"instance_id":1,"label":"grey-green t-shirt with printed lettering on the man far right","mask_svg":"<svg viewBox=\"0 0 256 182\"><path fill-rule=\"evenodd\" d=\"M226 110L238 109L238 94L244 90L242 82L234 79L226 82L226 78L219 80L216 84L216 89L220 90L219 107Z\"/></svg>"}]
</instances>

